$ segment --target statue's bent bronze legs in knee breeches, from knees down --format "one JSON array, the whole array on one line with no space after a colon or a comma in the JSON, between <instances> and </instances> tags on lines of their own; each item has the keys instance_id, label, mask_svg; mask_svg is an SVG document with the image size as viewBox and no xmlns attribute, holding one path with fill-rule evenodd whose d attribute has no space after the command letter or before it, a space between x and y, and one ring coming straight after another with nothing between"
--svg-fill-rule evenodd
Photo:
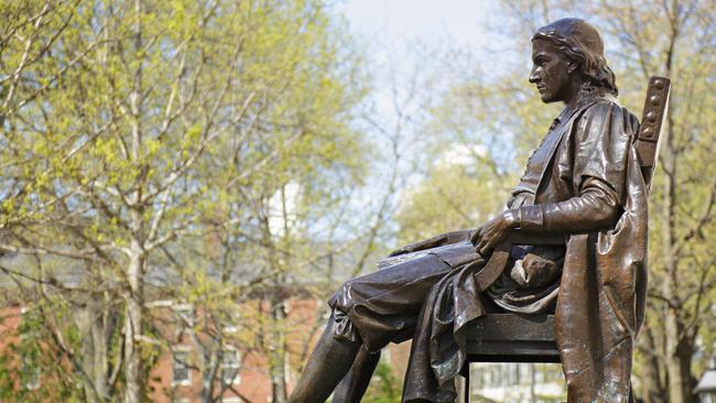
<instances>
[{"instance_id":1,"label":"statue's bent bronze legs in knee breeches, from knees down","mask_svg":"<svg viewBox=\"0 0 716 403\"><path fill-rule=\"evenodd\" d=\"M410 338L431 287L451 270L427 254L346 282L330 304L351 326L330 316L289 402L323 403L334 390L335 403L359 402L380 358L369 350ZM365 339L336 337L337 328L351 327Z\"/></svg>"}]
</instances>

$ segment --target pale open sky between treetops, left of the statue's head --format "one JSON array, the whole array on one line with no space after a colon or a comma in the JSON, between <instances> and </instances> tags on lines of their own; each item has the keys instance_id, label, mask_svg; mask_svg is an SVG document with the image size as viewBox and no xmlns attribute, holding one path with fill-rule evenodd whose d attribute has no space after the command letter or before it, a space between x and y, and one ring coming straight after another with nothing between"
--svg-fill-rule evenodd
<instances>
[{"instance_id":1,"label":"pale open sky between treetops, left of the statue's head","mask_svg":"<svg viewBox=\"0 0 716 403\"><path fill-rule=\"evenodd\" d=\"M505 52L510 37L501 32L503 11L497 0L336 0L334 4L365 50L377 80L372 96L388 116L393 107L390 86L400 83L391 76L393 70L408 76L416 68L436 68L443 77L440 85L445 86L452 84L449 74L477 64L481 74L489 74L506 64L527 65L529 59L518 55L521 59L516 61L514 53ZM448 50L458 52L460 59L436 57L452 54Z\"/></svg>"}]
</instances>

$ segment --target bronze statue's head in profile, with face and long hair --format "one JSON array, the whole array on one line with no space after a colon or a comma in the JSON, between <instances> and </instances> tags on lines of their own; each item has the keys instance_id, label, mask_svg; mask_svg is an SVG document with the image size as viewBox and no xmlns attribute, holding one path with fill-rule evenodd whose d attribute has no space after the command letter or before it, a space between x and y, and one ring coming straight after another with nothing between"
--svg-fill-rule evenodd
<instances>
[{"instance_id":1,"label":"bronze statue's head in profile, with face and long hair","mask_svg":"<svg viewBox=\"0 0 716 403\"><path fill-rule=\"evenodd\" d=\"M544 102L566 101L575 91L618 92L601 36L584 20L562 19L539 29L532 36L532 62L530 83Z\"/></svg>"}]
</instances>

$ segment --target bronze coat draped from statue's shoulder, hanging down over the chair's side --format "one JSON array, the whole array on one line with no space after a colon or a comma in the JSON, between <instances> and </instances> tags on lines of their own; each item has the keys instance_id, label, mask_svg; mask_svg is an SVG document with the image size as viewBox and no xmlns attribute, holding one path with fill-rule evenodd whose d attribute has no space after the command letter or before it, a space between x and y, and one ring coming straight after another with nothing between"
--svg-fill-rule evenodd
<instances>
[{"instance_id":1,"label":"bronze coat draped from statue's shoulder, hanging down over the chair's side","mask_svg":"<svg viewBox=\"0 0 716 403\"><path fill-rule=\"evenodd\" d=\"M595 144L584 155L577 150L574 172L606 178L622 211L612 229L569 237L555 333L568 402L619 403L629 401L633 342L644 318L648 194L632 146L637 119L612 102L592 109L579 124L589 128L583 141Z\"/></svg>"}]
</instances>

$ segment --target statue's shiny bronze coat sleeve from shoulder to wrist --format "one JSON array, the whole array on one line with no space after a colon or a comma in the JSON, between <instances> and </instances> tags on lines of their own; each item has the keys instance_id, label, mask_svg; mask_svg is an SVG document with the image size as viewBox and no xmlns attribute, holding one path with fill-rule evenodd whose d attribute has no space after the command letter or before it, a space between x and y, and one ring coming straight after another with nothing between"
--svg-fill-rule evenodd
<instances>
[{"instance_id":1,"label":"statue's shiny bronze coat sleeve from shoulder to wrist","mask_svg":"<svg viewBox=\"0 0 716 403\"><path fill-rule=\"evenodd\" d=\"M623 210L628 151L638 127L636 117L615 102L587 108L572 133L576 196L520 207L520 228L577 233L614 227Z\"/></svg>"}]
</instances>

